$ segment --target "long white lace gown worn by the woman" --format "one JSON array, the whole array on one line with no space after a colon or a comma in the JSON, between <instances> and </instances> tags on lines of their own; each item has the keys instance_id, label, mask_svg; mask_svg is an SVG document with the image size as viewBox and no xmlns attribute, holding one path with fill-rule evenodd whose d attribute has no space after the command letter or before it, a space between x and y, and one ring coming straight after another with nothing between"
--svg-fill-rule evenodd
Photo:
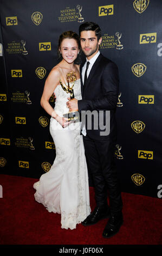
<instances>
[{"instance_id":1,"label":"long white lace gown worn by the woman","mask_svg":"<svg viewBox=\"0 0 162 256\"><path fill-rule=\"evenodd\" d=\"M74 84L75 98L81 99L80 79ZM70 94L59 85L55 89L55 111L60 116L68 113L66 106ZM90 214L88 172L80 135L80 123L63 128L50 119L50 133L56 147L56 158L49 172L34 184L35 200L49 212L61 214L61 228L74 229Z\"/></svg>"}]
</instances>

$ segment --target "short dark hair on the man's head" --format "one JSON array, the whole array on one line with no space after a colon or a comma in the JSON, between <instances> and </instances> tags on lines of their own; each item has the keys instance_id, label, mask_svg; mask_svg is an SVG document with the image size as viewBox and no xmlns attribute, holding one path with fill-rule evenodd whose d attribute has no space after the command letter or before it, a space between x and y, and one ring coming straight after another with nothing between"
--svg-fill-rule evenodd
<instances>
[{"instance_id":1,"label":"short dark hair on the man's head","mask_svg":"<svg viewBox=\"0 0 162 256\"><path fill-rule=\"evenodd\" d=\"M99 25L96 24L95 22L88 21L88 22L82 23L79 27L79 35L81 34L82 31L94 31L95 35L98 38L98 41L101 38L101 29Z\"/></svg>"}]
</instances>

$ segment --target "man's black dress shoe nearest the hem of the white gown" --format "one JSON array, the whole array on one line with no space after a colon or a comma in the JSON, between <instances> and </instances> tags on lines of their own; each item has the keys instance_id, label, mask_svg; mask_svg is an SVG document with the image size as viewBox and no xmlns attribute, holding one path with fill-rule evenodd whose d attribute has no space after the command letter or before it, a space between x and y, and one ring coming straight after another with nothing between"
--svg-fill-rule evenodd
<instances>
[{"instance_id":1,"label":"man's black dress shoe nearest the hem of the white gown","mask_svg":"<svg viewBox=\"0 0 162 256\"><path fill-rule=\"evenodd\" d=\"M94 211L88 215L86 220L82 222L82 225L88 226L97 223L98 221L102 220L103 218L108 218L110 216L110 212L108 208L100 209L96 207Z\"/></svg>"}]
</instances>

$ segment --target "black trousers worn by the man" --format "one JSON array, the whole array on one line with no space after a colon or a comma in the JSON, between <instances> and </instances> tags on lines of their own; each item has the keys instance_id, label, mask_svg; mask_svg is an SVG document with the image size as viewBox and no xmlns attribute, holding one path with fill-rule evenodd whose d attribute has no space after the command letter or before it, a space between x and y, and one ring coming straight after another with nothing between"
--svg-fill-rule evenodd
<instances>
[{"instance_id":1,"label":"black trousers worn by the man","mask_svg":"<svg viewBox=\"0 0 162 256\"><path fill-rule=\"evenodd\" d=\"M88 172L92 176L96 206L109 206L112 214L122 209L121 191L115 168L115 144L112 140L97 141L83 136Z\"/></svg>"}]
</instances>

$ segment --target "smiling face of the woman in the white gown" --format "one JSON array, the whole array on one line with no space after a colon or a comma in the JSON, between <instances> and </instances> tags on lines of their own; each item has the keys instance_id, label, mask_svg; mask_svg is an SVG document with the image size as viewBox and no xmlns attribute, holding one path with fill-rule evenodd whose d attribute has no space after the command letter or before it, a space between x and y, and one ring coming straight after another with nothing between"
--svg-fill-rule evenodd
<instances>
[{"instance_id":1,"label":"smiling face of the woman in the white gown","mask_svg":"<svg viewBox=\"0 0 162 256\"><path fill-rule=\"evenodd\" d=\"M62 58L67 63L73 63L77 58L77 53L79 52L79 48L77 45L77 41L75 39L63 39L60 46L60 53L62 54Z\"/></svg>"}]
</instances>

